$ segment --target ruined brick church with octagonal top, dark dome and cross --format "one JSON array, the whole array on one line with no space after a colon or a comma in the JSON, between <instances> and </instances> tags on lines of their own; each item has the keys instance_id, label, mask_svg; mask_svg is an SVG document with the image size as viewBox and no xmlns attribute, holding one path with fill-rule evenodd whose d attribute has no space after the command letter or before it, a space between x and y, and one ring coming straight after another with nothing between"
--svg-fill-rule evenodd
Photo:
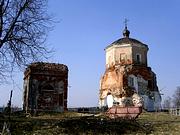
<instances>
[{"instance_id":1,"label":"ruined brick church with octagonal top, dark dome and cross","mask_svg":"<svg viewBox=\"0 0 180 135\"><path fill-rule=\"evenodd\" d=\"M130 38L125 25L123 38L105 48L106 70L100 79L99 106L106 106L106 97L110 93L114 100L130 97L132 91L143 99L147 111L161 107L161 95L156 82L156 74L148 66L148 46Z\"/></svg>"}]
</instances>

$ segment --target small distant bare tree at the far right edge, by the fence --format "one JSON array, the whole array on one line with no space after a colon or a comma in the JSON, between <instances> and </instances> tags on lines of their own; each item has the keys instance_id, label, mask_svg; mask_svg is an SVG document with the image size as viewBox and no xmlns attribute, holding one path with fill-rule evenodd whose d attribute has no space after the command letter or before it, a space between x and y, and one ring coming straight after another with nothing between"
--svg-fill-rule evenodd
<instances>
[{"instance_id":1,"label":"small distant bare tree at the far right edge, by the fence","mask_svg":"<svg viewBox=\"0 0 180 135\"><path fill-rule=\"evenodd\" d=\"M180 108L180 86L177 87L173 95L173 105L176 108Z\"/></svg>"}]
</instances>

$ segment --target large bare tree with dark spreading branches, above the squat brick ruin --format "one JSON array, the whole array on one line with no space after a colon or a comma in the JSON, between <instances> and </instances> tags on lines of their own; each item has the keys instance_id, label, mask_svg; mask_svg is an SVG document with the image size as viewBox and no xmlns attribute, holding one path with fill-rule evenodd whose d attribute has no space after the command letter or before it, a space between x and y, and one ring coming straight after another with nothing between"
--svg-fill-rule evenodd
<instances>
[{"instance_id":1,"label":"large bare tree with dark spreading branches, above the squat brick ruin","mask_svg":"<svg viewBox=\"0 0 180 135\"><path fill-rule=\"evenodd\" d=\"M45 58L52 20L47 0L0 0L0 79L14 66Z\"/></svg>"}]
</instances>

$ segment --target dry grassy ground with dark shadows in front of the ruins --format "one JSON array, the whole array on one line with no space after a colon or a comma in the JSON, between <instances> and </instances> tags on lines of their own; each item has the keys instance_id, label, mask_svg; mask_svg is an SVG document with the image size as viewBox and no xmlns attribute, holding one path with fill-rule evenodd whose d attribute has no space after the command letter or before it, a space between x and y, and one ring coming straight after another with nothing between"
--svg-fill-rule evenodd
<instances>
[{"instance_id":1,"label":"dry grassy ground with dark shadows in front of the ruins","mask_svg":"<svg viewBox=\"0 0 180 135\"><path fill-rule=\"evenodd\" d=\"M0 133L4 118L0 118ZM11 117L13 135L179 135L180 116L142 113L136 120L110 120L103 114L51 113Z\"/></svg>"}]
</instances>

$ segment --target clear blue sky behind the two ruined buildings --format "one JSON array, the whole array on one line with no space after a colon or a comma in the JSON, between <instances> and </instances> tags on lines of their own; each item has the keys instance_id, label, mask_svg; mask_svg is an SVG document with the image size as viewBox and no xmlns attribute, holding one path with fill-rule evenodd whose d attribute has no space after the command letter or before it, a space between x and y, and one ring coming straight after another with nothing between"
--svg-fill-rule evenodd
<instances>
[{"instance_id":1,"label":"clear blue sky behind the two ruined buildings","mask_svg":"<svg viewBox=\"0 0 180 135\"><path fill-rule=\"evenodd\" d=\"M157 75L163 98L180 86L179 0L49 0L48 12L59 22L47 44L56 51L49 62L69 68L68 106L97 106L99 80L105 71L104 48L122 38L127 18L131 38L149 47L148 65ZM22 106L23 73L0 85L0 106L13 89Z\"/></svg>"}]
</instances>

